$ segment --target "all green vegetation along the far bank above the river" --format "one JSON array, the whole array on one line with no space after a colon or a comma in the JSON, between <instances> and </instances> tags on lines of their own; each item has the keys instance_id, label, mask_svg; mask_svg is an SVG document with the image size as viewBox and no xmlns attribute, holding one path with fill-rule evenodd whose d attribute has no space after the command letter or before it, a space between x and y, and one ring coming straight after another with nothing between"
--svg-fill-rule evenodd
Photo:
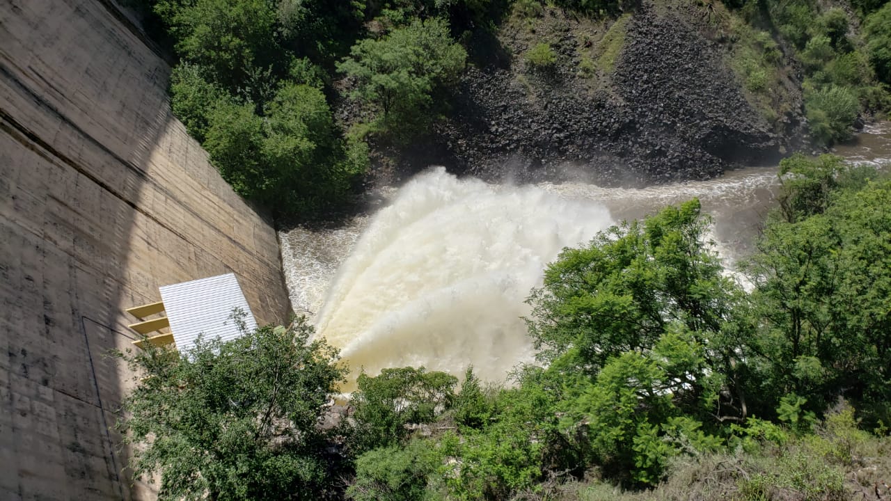
<instances>
[{"instance_id":1,"label":"all green vegetation along the far bank above the river","mask_svg":"<svg viewBox=\"0 0 891 501\"><path fill-rule=\"evenodd\" d=\"M236 192L304 218L350 201L370 166L369 142L398 149L428 134L448 109L467 53L486 50L478 44L496 37L511 12L530 22L544 12L542 0L143 2L178 57L170 86L176 116ZM598 19L636 5L554 4ZM791 103L781 77L797 65L818 144L845 140L862 112L891 106L891 4L862 0L854 12L813 0L726 4L732 66L777 127ZM707 12L711 19L715 4ZM622 38L605 40L596 67L610 72ZM558 63L546 40L514 55L534 72ZM585 59L579 71L593 74L595 65ZM336 118L333 108L348 117Z\"/></svg>"}]
</instances>

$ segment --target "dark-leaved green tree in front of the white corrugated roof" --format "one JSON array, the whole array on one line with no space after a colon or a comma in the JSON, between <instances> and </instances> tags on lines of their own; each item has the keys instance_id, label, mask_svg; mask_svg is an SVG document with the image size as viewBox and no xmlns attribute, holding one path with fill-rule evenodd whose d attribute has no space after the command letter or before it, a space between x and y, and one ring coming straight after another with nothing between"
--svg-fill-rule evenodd
<instances>
[{"instance_id":1,"label":"dark-leaved green tree in front of the white corrugated roof","mask_svg":"<svg viewBox=\"0 0 891 501\"><path fill-rule=\"evenodd\" d=\"M298 318L177 353L119 353L142 379L118 426L139 444L137 477L160 474L159 499L316 499L327 480L319 428L346 371L337 349Z\"/></svg>"}]
</instances>

